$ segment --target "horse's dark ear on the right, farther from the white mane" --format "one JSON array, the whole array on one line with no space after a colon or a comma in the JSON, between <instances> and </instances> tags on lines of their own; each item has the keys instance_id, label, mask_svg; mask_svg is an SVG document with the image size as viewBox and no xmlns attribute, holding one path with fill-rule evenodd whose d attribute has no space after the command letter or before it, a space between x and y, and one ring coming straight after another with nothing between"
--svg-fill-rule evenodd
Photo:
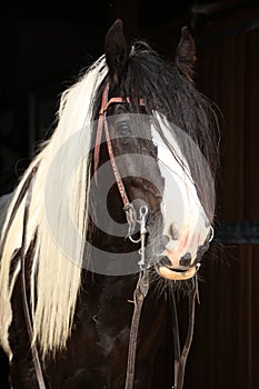
<instances>
[{"instance_id":1,"label":"horse's dark ear on the right, farther from the white mane","mask_svg":"<svg viewBox=\"0 0 259 389\"><path fill-rule=\"evenodd\" d=\"M182 27L181 39L177 47L176 64L183 76L193 82L196 63L196 43L188 27Z\"/></svg>"}]
</instances>

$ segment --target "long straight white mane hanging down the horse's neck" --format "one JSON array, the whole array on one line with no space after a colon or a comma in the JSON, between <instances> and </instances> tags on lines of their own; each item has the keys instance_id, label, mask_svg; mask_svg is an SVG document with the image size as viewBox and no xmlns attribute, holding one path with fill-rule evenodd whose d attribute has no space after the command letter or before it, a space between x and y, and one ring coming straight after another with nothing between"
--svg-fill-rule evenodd
<instances>
[{"instance_id":1,"label":"long straight white mane hanging down the horse's neck","mask_svg":"<svg viewBox=\"0 0 259 389\"><path fill-rule=\"evenodd\" d=\"M24 199L19 206L11 228L7 231L4 242L2 238L22 186L37 163L39 163L39 168L33 181L27 226L27 249L37 232L30 297L34 340L39 342L44 356L50 350L54 351L56 348L63 347L70 336L80 288L80 263L86 237L84 215L88 206L86 194L89 180L88 161L87 158L81 159L81 154L82 147L84 153L90 150L91 133L88 124L92 113L92 97L107 71L102 56L74 86L64 91L61 97L56 131L27 169L9 207L1 236L1 245L4 243L4 247L0 262L0 341L10 357L11 351L8 345L8 331L12 320L10 299L17 276L20 272L20 261L11 280L9 275L13 252L21 247ZM78 142L69 141L76 133ZM62 153L62 163L54 163L53 160L60 152ZM71 164L74 160L80 160L80 163L78 163L71 180L71 176L68 177L68 174L71 174ZM62 247L62 250L57 239L53 239L53 231L49 225L48 212L46 212L47 181L48 198L51 199L51 226L54 221L54 236L61 237L62 243L68 245L66 248ZM69 199L64 196L64 191L68 191L67 182L70 184ZM68 209L67 201L69 201L71 219L81 236L79 240L71 239L71 226L63 217ZM73 258L68 258L67 250L73 253Z\"/></svg>"}]
</instances>

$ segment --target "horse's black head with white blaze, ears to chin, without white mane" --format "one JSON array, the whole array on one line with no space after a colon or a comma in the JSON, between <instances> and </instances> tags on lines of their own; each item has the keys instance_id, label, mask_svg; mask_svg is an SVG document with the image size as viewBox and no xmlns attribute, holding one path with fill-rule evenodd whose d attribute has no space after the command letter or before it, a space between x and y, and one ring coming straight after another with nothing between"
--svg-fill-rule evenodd
<instances>
[{"instance_id":1,"label":"horse's black head with white blaze, ears to chin, without white mane","mask_svg":"<svg viewBox=\"0 0 259 389\"><path fill-rule=\"evenodd\" d=\"M108 74L98 93L92 140L92 173L99 182L92 209L101 209L97 219L99 223L102 219L109 236L120 236L116 245L124 257L119 259L122 272L153 266L166 279L189 279L213 231L213 201L210 206L207 201L213 197L213 180L195 133L199 112L191 118L190 108L188 118L188 101L186 106L180 101L180 93L185 99L190 92L189 101L199 110L200 100L191 101L196 97L195 42L183 28L175 64L167 64L145 42L129 47L117 20L107 33L104 53ZM197 123L188 123L191 119ZM107 167L104 162L110 173L100 168ZM106 194L107 213L101 207ZM109 216L106 221L103 215ZM114 250L111 257L113 261Z\"/></svg>"}]
</instances>

